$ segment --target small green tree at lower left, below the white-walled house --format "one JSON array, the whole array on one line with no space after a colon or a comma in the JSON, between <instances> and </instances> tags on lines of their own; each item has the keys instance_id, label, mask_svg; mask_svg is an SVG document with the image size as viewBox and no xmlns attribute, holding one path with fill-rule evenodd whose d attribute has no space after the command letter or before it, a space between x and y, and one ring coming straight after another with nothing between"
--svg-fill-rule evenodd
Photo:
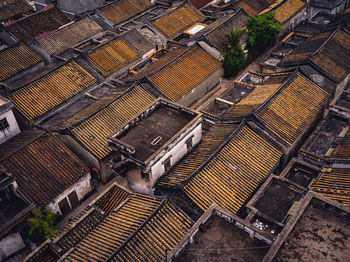
<instances>
[{"instance_id":1,"label":"small green tree at lower left, below the white-walled house","mask_svg":"<svg viewBox=\"0 0 350 262\"><path fill-rule=\"evenodd\" d=\"M45 208L33 209L33 217L28 219L29 236L48 239L57 234L58 228L55 226L56 214L52 213L48 206Z\"/></svg>"}]
</instances>

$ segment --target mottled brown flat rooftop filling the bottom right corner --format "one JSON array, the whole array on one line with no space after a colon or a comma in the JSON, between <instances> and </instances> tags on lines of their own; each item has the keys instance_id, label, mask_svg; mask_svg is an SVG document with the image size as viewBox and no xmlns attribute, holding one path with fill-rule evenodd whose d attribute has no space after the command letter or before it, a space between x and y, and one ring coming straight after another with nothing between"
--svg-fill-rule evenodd
<instances>
[{"instance_id":1,"label":"mottled brown flat rooftop filling the bottom right corner","mask_svg":"<svg viewBox=\"0 0 350 262\"><path fill-rule=\"evenodd\" d=\"M350 261L350 221L309 206L274 261Z\"/></svg>"}]
</instances>

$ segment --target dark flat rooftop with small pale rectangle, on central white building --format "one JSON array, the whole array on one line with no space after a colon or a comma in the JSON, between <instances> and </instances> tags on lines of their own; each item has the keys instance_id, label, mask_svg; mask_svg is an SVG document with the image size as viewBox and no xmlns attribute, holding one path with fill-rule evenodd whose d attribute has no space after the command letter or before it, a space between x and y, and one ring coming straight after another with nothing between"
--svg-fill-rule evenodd
<instances>
[{"instance_id":1,"label":"dark flat rooftop with small pale rectangle, on central white building","mask_svg":"<svg viewBox=\"0 0 350 262\"><path fill-rule=\"evenodd\" d=\"M149 116L141 118L135 126L131 126L117 139L134 147L136 151L134 157L145 161L190 123L195 116L162 105Z\"/></svg>"}]
</instances>

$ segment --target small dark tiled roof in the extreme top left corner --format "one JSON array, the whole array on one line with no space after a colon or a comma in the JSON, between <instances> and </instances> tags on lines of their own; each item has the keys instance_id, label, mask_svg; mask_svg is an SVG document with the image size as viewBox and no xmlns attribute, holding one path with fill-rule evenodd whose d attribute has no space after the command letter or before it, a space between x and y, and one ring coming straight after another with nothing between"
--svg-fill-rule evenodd
<instances>
[{"instance_id":1,"label":"small dark tiled roof in the extreme top left corner","mask_svg":"<svg viewBox=\"0 0 350 262\"><path fill-rule=\"evenodd\" d=\"M27 1L16 0L0 6L0 22L15 18L23 13L34 11Z\"/></svg>"}]
</instances>

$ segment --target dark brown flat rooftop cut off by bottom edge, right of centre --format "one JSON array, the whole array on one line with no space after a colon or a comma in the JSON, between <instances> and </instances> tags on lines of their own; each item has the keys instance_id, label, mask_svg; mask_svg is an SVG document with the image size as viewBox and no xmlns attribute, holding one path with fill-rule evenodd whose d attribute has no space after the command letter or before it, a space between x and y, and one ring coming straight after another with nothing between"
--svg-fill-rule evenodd
<instances>
[{"instance_id":1,"label":"dark brown flat rooftop cut off by bottom edge, right of centre","mask_svg":"<svg viewBox=\"0 0 350 262\"><path fill-rule=\"evenodd\" d=\"M176 262L258 262L269 249L265 242L250 238L248 233L223 218L210 218L206 227Z\"/></svg>"}]
</instances>

